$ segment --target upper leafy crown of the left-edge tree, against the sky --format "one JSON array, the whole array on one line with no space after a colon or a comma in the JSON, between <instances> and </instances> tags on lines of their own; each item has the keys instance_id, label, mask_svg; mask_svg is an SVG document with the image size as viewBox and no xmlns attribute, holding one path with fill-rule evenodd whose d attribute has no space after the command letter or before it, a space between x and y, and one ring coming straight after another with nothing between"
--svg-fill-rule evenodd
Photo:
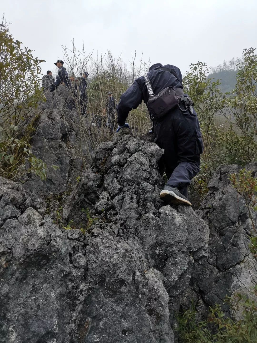
<instances>
[{"instance_id":1,"label":"upper leafy crown of the left-edge tree, against the sky","mask_svg":"<svg viewBox=\"0 0 257 343\"><path fill-rule=\"evenodd\" d=\"M0 126L1 134L9 137L29 111L45 97L40 86L40 60L32 49L21 47L6 23L0 26Z\"/></svg>"}]
</instances>

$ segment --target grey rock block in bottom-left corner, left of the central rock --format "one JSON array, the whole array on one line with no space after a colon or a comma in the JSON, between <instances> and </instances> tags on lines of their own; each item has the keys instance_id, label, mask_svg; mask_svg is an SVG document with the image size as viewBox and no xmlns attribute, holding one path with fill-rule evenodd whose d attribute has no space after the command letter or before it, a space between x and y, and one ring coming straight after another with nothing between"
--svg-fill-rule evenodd
<instances>
[{"instance_id":1,"label":"grey rock block in bottom-left corner, left of the central rock","mask_svg":"<svg viewBox=\"0 0 257 343\"><path fill-rule=\"evenodd\" d=\"M0 199L0 342L70 342L84 300L84 236L43 219L12 181L0 178Z\"/></svg>"}]
</instances>

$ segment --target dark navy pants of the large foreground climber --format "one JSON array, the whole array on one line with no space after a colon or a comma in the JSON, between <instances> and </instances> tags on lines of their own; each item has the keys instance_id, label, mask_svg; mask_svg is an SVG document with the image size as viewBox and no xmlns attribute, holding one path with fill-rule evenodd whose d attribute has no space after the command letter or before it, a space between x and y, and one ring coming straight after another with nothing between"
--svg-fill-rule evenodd
<instances>
[{"instance_id":1,"label":"dark navy pants of the large foreground climber","mask_svg":"<svg viewBox=\"0 0 257 343\"><path fill-rule=\"evenodd\" d=\"M155 142L164 149L160 171L165 167L167 185L178 187L187 197L187 187L200 170L204 149L197 115L176 107L162 120L154 120L154 131Z\"/></svg>"}]
</instances>

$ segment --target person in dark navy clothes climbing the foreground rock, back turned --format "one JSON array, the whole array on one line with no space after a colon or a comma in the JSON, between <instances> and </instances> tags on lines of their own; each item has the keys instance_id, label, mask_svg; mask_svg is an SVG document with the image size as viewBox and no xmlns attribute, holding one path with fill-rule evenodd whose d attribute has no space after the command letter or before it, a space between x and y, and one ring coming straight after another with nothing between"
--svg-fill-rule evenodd
<instances>
[{"instance_id":1,"label":"person in dark navy clothes climbing the foreground rock, back turned","mask_svg":"<svg viewBox=\"0 0 257 343\"><path fill-rule=\"evenodd\" d=\"M165 66L160 63L154 64L147 75L155 94L169 86L183 90L181 71L171 64ZM187 97L186 94L185 96ZM136 109L142 100L147 105L148 99L145 79L141 76L120 98L117 106L119 125L117 132L122 127L129 127L125 121L132 108ZM195 110L193 107L189 110L180 103L161 119L152 119L155 142L164 149L162 161L168 178L160 197L174 204L192 205L187 199L187 187L199 172L200 154L203 153L204 148Z\"/></svg>"}]
</instances>

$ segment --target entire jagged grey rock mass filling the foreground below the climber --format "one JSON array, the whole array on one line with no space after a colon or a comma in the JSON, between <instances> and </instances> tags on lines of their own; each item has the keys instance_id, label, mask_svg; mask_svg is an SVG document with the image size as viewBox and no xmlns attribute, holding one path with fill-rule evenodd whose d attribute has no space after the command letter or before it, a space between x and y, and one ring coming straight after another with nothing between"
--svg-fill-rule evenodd
<instances>
[{"instance_id":1,"label":"entire jagged grey rock mass filling the foreground below the climber","mask_svg":"<svg viewBox=\"0 0 257 343\"><path fill-rule=\"evenodd\" d=\"M213 176L198 214L172 207L162 150L126 133L98 146L60 227L0 180L0 342L173 343L181 306L204 313L250 284L249 220L227 179L238 167Z\"/></svg>"}]
</instances>

